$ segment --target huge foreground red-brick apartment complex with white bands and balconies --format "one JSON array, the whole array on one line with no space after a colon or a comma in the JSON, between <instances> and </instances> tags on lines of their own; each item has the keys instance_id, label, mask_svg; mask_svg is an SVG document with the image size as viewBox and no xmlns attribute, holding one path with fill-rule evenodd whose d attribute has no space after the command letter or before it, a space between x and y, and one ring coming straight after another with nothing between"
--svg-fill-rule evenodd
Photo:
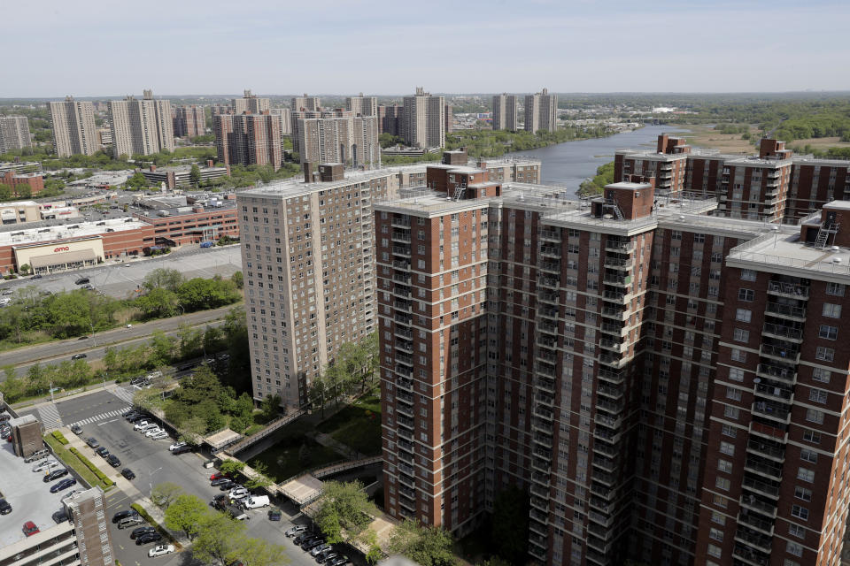
<instances>
[{"instance_id":1,"label":"huge foreground red-brick apartment complex with white bands and balconies","mask_svg":"<svg viewBox=\"0 0 850 566\"><path fill-rule=\"evenodd\" d=\"M523 486L539 563L840 563L850 204L427 178L375 206L390 514L464 533Z\"/></svg>"}]
</instances>

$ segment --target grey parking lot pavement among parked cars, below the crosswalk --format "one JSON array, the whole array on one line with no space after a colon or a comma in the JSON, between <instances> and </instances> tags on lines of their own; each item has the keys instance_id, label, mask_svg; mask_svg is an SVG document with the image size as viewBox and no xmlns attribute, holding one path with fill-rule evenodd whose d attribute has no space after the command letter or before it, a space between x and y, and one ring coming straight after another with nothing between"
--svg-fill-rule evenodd
<instances>
[{"instance_id":1,"label":"grey parking lot pavement among parked cars, below the crosswalk","mask_svg":"<svg viewBox=\"0 0 850 566\"><path fill-rule=\"evenodd\" d=\"M182 486L186 493L197 495L204 501L211 501L220 490L210 486L209 477L215 470L205 469L203 463L207 459L204 455L189 452L182 455L172 455L168 446L174 439L151 440L143 434L133 430L133 424L128 423L123 417L111 417L96 422L82 424L83 439L94 437L110 453L120 458L121 465L112 469L102 458L86 448L84 453L92 462L97 462L101 469L110 470L111 478L118 478L122 468L129 468L135 472L135 479L130 483L142 493L143 496L150 495L152 486L159 483L172 482ZM108 493L106 498L106 512L111 519L120 510L129 509L133 502L128 493L120 489L114 489ZM293 524L305 524L305 517L300 516L298 508L291 504L282 505L282 520L279 522L269 521L268 509L251 509L247 513L251 517L246 522L249 536L265 539L274 544L280 544L286 548L290 562L293 564L315 565L312 556L296 547L291 539L284 537L283 532ZM160 562L169 565L182 564L185 566L187 553L177 555L166 555L159 558L148 558L147 552L151 545L137 547L132 541L130 531L120 531L116 525L110 523L112 529L112 541L115 547L116 558L125 566L135 564L141 566L143 563ZM351 551L343 551L351 556ZM355 562L357 563L357 562Z\"/></svg>"}]
</instances>

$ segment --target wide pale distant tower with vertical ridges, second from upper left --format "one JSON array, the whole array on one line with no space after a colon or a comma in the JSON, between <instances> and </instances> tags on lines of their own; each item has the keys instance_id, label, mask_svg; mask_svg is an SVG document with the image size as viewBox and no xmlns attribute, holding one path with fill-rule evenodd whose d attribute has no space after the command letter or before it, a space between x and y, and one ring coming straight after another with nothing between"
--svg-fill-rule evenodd
<instances>
[{"instance_id":1,"label":"wide pale distant tower with vertical ridges, second from upper left","mask_svg":"<svg viewBox=\"0 0 850 566\"><path fill-rule=\"evenodd\" d=\"M170 102L155 100L153 92L145 90L141 100L128 96L124 100L111 100L108 105L113 156L174 151Z\"/></svg>"}]
</instances>

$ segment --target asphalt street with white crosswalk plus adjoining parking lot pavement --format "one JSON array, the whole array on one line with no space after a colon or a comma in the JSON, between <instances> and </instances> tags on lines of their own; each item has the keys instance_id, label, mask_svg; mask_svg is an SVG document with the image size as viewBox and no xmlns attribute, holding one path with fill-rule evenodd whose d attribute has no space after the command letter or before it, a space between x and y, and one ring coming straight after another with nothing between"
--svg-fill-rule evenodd
<instances>
[{"instance_id":1,"label":"asphalt street with white crosswalk plus adjoining parking lot pavement","mask_svg":"<svg viewBox=\"0 0 850 566\"><path fill-rule=\"evenodd\" d=\"M171 482L182 486L186 493L197 495L203 501L211 501L213 496L221 493L218 488L210 486L209 475L214 470L203 467L206 460L204 455L187 453L173 455L168 451L168 445L174 439L150 440L133 430L133 424L128 423L121 413L129 408L128 399L132 395L132 387L116 387L113 391L103 391L88 394L83 397L68 399L55 405L48 404L50 409L27 409L22 414L31 413L42 417L42 413L55 413L65 426L81 424L83 439L95 437L110 453L117 455L121 461L119 469L112 469L104 464L103 459L94 455L88 447L83 453L92 462L98 464L101 470L108 472L110 478L116 478L120 469L129 468L135 472L136 478L131 482L144 496L151 492L151 487L160 483ZM120 510L129 509L132 498L121 491L113 489L106 495L106 516L112 516ZM290 563L297 566L315 566L316 562L306 552L295 547L283 532L293 524L305 524L306 519L300 515L297 506L287 503L280 507L283 518L280 522L267 519L267 509L251 509L248 511L251 519L245 524L251 537L265 539L271 543L282 545L290 558ZM129 538L130 530L119 531L117 526L109 523L112 532L112 545L115 557L125 566L141 566L143 563L158 562L167 566L187 566L194 563L190 552L176 555L166 555L151 559L147 551L151 545L137 547ZM342 551L352 556L350 550ZM358 563L359 562L355 562Z\"/></svg>"}]
</instances>

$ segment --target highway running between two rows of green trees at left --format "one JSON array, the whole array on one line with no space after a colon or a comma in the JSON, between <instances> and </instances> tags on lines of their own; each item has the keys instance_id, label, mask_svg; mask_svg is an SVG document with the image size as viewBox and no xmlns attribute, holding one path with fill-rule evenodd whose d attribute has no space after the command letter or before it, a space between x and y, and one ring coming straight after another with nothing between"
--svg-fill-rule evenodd
<instances>
[{"instance_id":1,"label":"highway running between two rows of green trees at left","mask_svg":"<svg viewBox=\"0 0 850 566\"><path fill-rule=\"evenodd\" d=\"M3 352L0 355L0 359L3 360L3 365L14 365L18 369L19 374L26 373L27 368L34 363L61 361L68 359L78 352L84 352L89 361L97 360L104 356L106 346L110 344L120 346L138 344L141 341L150 340L151 334L157 330L161 330L166 334L174 334L179 332L181 325L197 326L206 325L207 323L211 326L219 325L221 323L215 321L225 317L232 308L233 305L230 305L221 309L203 310L181 317L162 318L148 323L135 324L132 328L116 328L103 333L97 333L94 338L87 338L85 340L74 338L18 348ZM4 376L0 374L0 381L3 379Z\"/></svg>"}]
</instances>

